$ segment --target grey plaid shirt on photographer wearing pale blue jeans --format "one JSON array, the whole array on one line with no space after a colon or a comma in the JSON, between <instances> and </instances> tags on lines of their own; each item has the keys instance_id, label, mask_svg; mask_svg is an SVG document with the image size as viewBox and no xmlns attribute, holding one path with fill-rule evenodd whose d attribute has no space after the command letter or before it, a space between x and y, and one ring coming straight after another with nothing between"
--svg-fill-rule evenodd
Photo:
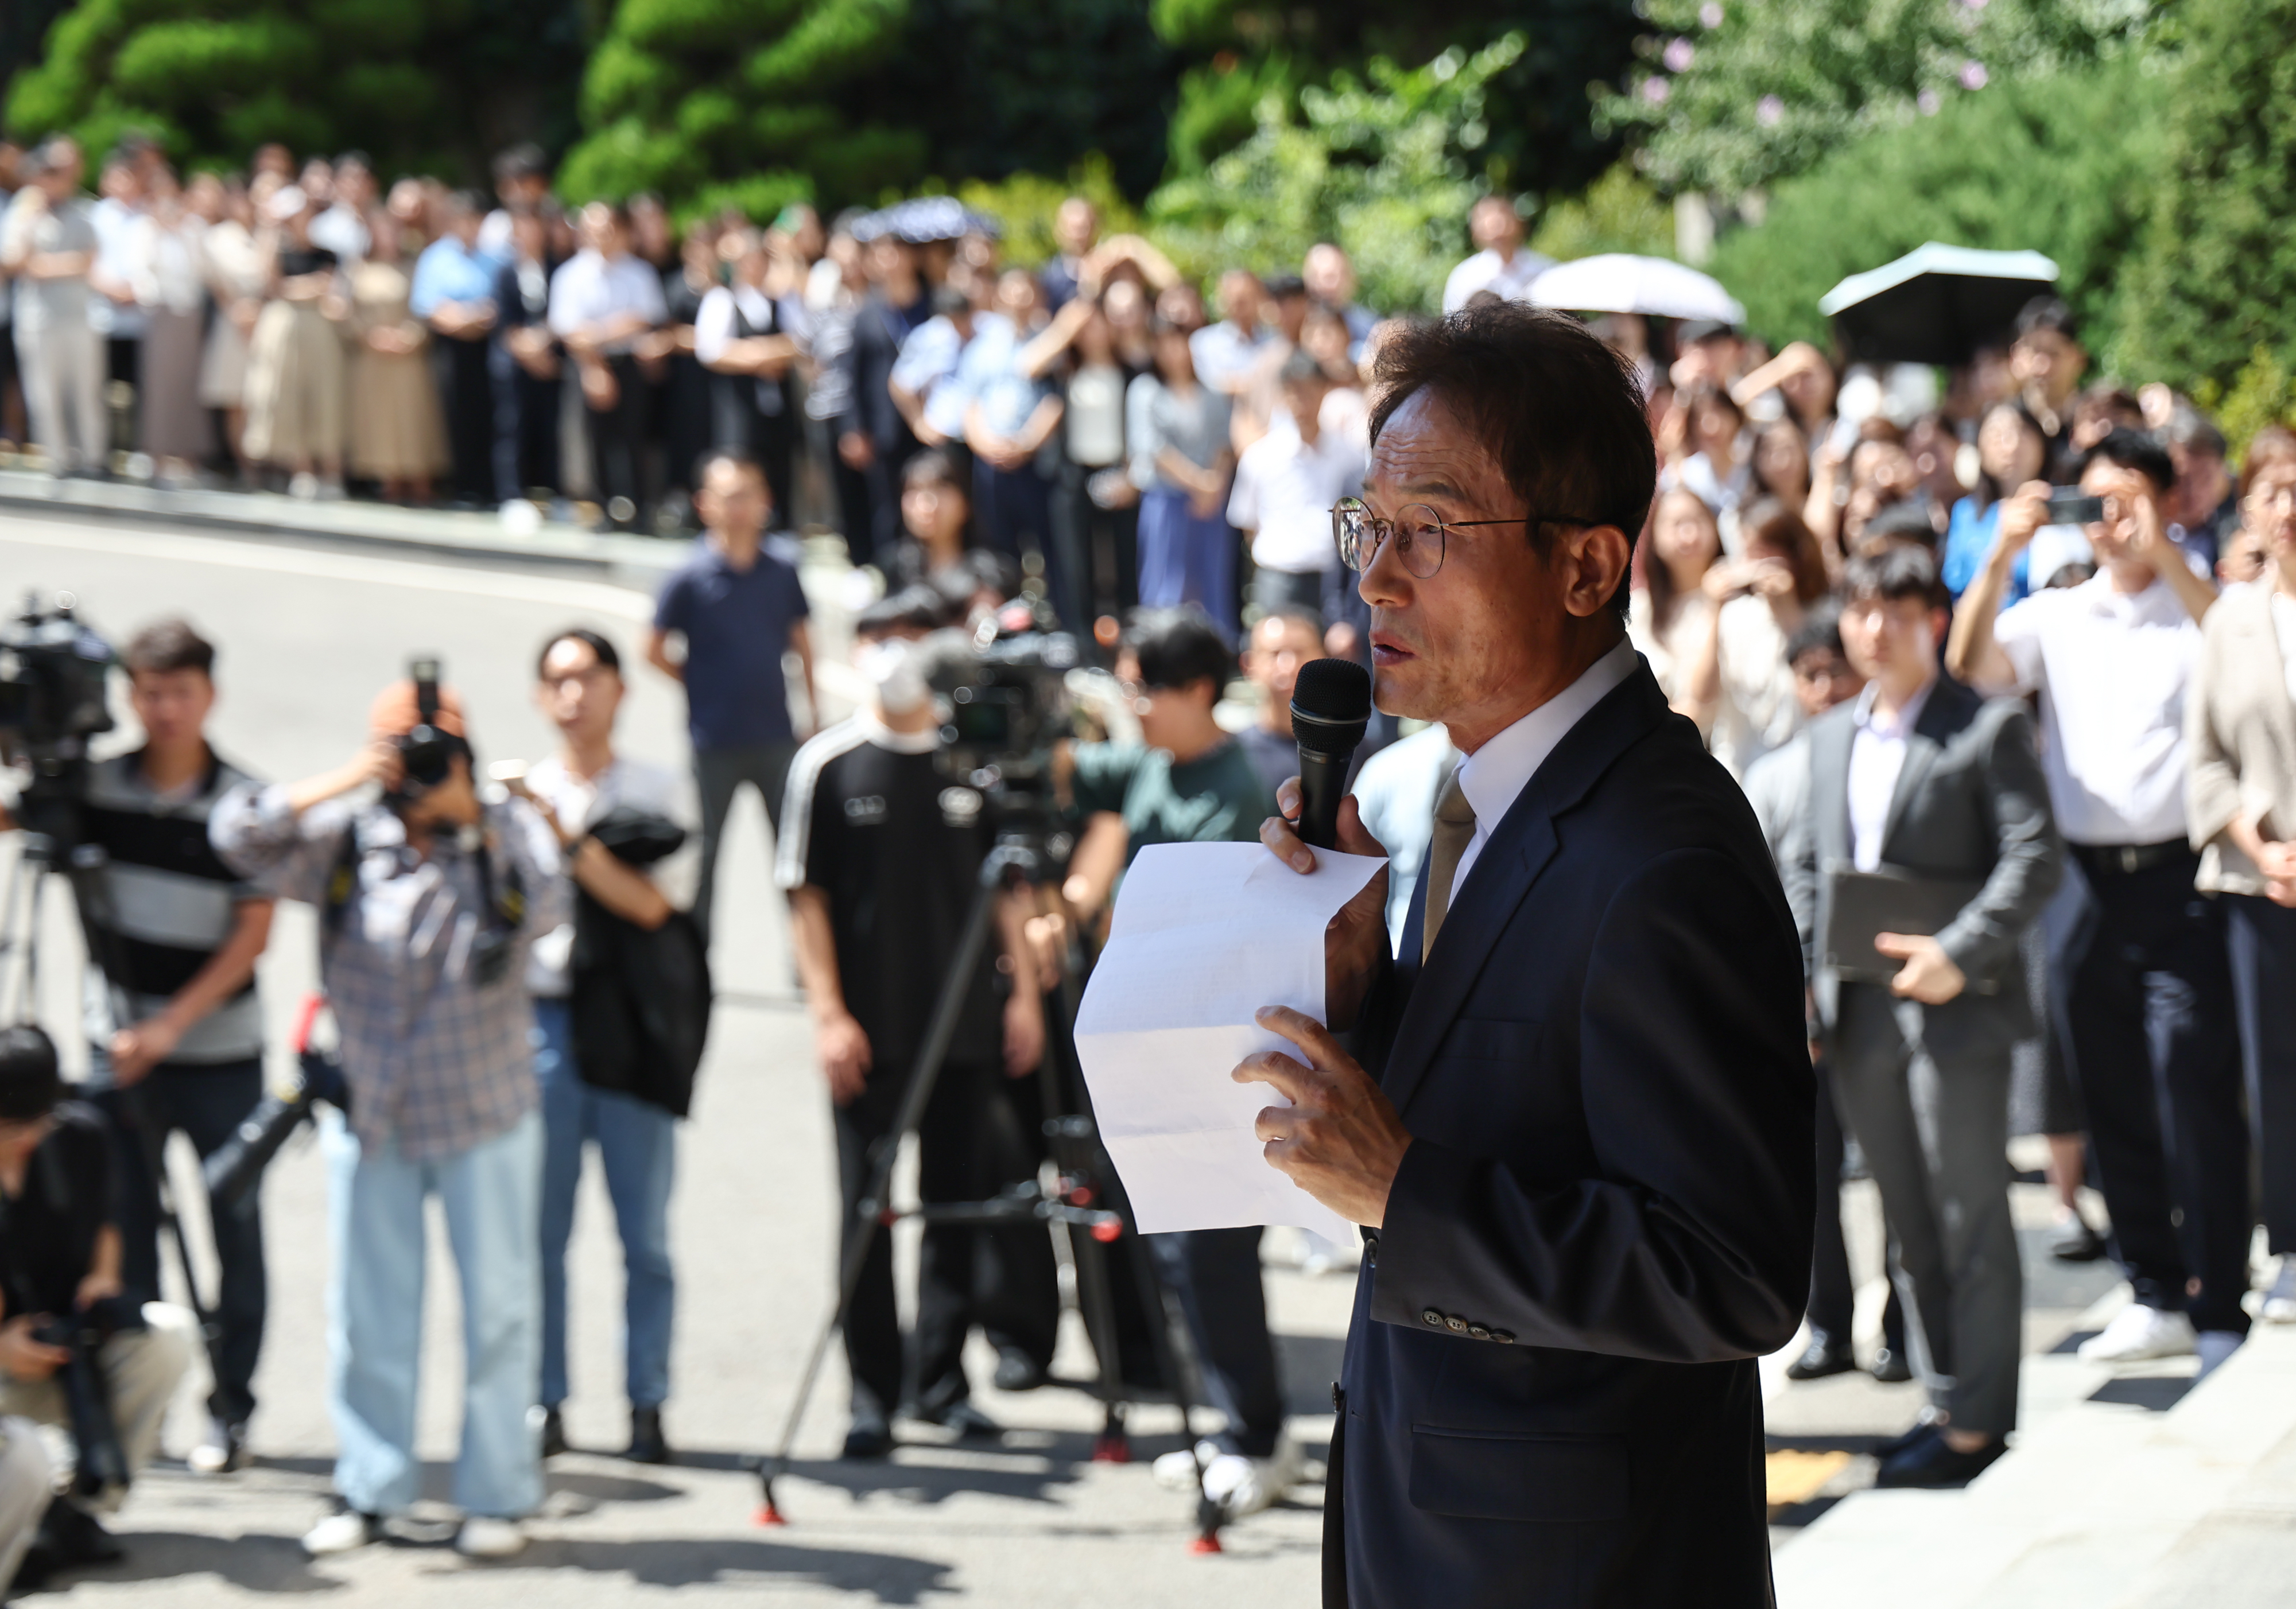
<instances>
[{"instance_id":1,"label":"grey plaid shirt on photographer wearing pale blue jeans","mask_svg":"<svg viewBox=\"0 0 2296 1609\"><path fill-rule=\"evenodd\" d=\"M487 920L478 854L452 835L425 858L383 803L328 799L298 819L285 787L236 787L216 806L216 852L264 893L326 909L326 884L358 833L358 877L333 934L319 939L328 1005L342 1031L351 1129L411 1161L450 1157L505 1134L540 1104L526 957L572 918L558 840L519 799L487 806L494 881L526 891L498 982L471 978Z\"/></svg>"}]
</instances>

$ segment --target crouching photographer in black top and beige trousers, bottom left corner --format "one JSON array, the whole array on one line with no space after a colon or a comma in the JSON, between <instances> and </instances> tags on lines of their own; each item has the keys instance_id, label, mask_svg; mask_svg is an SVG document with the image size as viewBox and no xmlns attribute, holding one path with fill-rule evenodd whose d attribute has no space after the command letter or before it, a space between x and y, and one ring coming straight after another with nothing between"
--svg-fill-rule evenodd
<instances>
[{"instance_id":1,"label":"crouching photographer in black top and beige trousers, bottom left corner","mask_svg":"<svg viewBox=\"0 0 2296 1609\"><path fill-rule=\"evenodd\" d=\"M67 1425L78 1455L41 1519L39 1563L119 1559L94 1510L119 1508L158 1451L197 1320L124 1295L113 1141L99 1111L64 1102L55 1044L32 1026L0 1028L0 1414ZM25 1540L16 1441L0 1458L0 1526L16 1519L0 1561Z\"/></svg>"}]
</instances>

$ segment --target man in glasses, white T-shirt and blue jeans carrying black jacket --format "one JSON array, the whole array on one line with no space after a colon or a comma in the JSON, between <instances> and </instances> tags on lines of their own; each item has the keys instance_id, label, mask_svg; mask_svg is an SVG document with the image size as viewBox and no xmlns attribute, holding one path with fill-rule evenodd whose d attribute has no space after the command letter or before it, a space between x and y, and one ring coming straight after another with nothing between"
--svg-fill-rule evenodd
<instances>
[{"instance_id":1,"label":"man in glasses, white T-shirt and blue jeans carrying black jacket","mask_svg":"<svg viewBox=\"0 0 2296 1609\"><path fill-rule=\"evenodd\" d=\"M535 661L535 702L565 739L556 755L510 783L556 829L567 877L608 914L657 932L673 907L638 868L606 849L592 829L608 817L650 817L668 826L677 778L613 751L622 707L622 656L588 627L567 627ZM501 776L501 771L496 771ZM579 1051L574 962L576 923L535 941L526 987L535 996L542 1079L542 1455L567 1448L567 1242L583 1150L597 1143L622 1237L622 1347L629 1391L629 1451L641 1464L670 1462L661 1405L670 1396L670 1182L677 1168L677 1113L636 1093L599 1088Z\"/></svg>"}]
</instances>

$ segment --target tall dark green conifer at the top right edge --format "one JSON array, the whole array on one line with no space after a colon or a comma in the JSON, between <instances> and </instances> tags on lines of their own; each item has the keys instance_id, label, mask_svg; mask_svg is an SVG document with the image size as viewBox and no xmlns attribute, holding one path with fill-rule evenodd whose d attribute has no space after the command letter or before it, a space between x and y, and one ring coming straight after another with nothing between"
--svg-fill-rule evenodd
<instances>
[{"instance_id":1,"label":"tall dark green conifer at the top right edge","mask_svg":"<svg viewBox=\"0 0 2296 1609\"><path fill-rule=\"evenodd\" d=\"M2296 367L2296 2L2190 0L2183 16L2122 351L2138 374L2234 386L2257 349Z\"/></svg>"}]
</instances>

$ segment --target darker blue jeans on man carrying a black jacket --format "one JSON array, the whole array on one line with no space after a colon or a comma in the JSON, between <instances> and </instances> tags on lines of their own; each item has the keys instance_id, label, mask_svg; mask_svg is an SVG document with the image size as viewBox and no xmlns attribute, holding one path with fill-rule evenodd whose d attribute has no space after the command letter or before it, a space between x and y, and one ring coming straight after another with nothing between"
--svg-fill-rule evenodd
<instances>
[{"instance_id":1,"label":"darker blue jeans on man carrying a black jacket","mask_svg":"<svg viewBox=\"0 0 2296 1609\"><path fill-rule=\"evenodd\" d=\"M670 1182L677 1118L615 1090L592 1090L574 1072L572 1012L535 1001L535 1076L542 1081L542 1402L567 1400L567 1239L581 1152L597 1141L622 1237L622 1370L631 1407L670 1396Z\"/></svg>"}]
</instances>

